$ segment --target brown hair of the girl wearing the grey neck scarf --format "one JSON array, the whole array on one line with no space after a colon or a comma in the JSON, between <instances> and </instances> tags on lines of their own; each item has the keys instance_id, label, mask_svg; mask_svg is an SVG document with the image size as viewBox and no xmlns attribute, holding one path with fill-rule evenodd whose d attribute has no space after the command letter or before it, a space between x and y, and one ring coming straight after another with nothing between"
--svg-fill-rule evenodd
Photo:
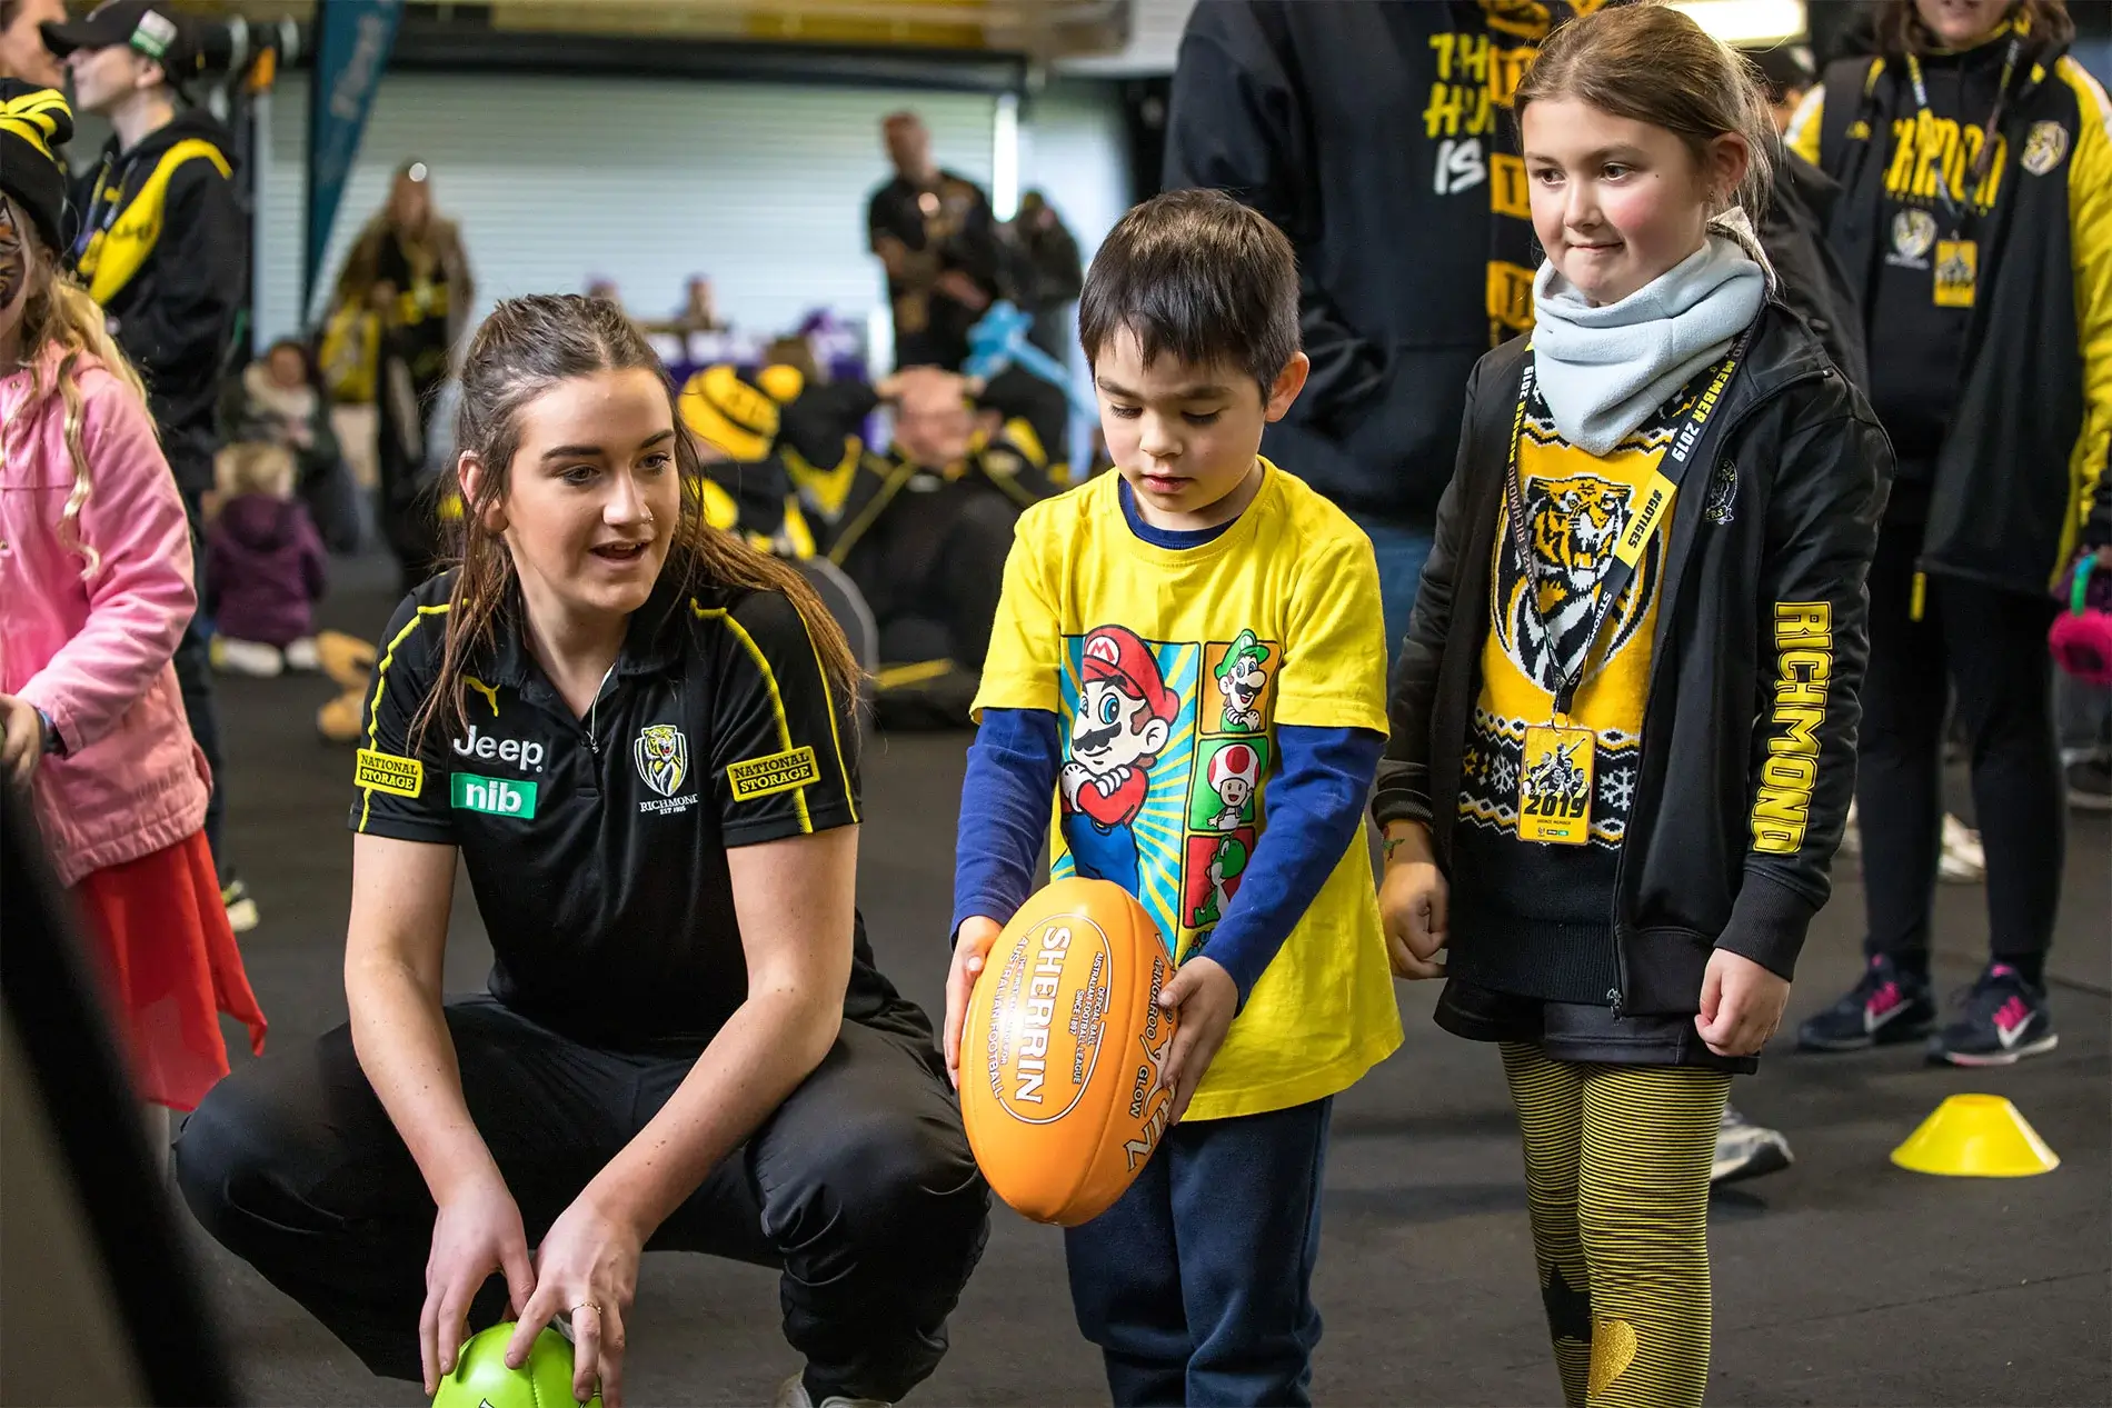
<instances>
[{"instance_id":1,"label":"brown hair of the girl wearing the grey neck scarf","mask_svg":"<svg viewBox=\"0 0 2112 1408\"><path fill-rule=\"evenodd\" d=\"M1668 4L1624 4L1571 19L1540 46L1512 112L1569 97L1618 118L1662 127L1700 160L1721 133L1751 148L1732 192L1757 222L1774 179L1778 139L1759 70Z\"/></svg>"}]
</instances>

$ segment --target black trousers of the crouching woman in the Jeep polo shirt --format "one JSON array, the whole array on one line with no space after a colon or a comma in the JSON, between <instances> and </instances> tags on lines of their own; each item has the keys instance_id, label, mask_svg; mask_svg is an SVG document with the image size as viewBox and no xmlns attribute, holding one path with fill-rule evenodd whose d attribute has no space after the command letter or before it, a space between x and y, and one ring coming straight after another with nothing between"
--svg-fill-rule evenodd
<instances>
[{"instance_id":1,"label":"black trousers of the crouching woman in the Jeep polo shirt","mask_svg":"<svg viewBox=\"0 0 2112 1408\"><path fill-rule=\"evenodd\" d=\"M581 1045L492 998L450 1003L463 1096L534 1245L695 1064ZM435 1205L353 1053L351 1028L222 1081L175 1169L228 1250L370 1370L418 1378ZM809 1385L893 1402L946 1353L988 1235L988 1188L929 1043L855 1022L807 1083L703 1180L646 1250L784 1269ZM484 1286L471 1330L505 1317Z\"/></svg>"}]
</instances>

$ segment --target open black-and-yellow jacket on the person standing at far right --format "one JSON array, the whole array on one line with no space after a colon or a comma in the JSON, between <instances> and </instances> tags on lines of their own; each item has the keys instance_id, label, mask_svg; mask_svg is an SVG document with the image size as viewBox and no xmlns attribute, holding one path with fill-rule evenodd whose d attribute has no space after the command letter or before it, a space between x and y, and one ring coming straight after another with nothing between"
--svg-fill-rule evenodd
<instances>
[{"instance_id":1,"label":"open black-and-yellow jacket on the person standing at far right","mask_svg":"<svg viewBox=\"0 0 2112 1408\"><path fill-rule=\"evenodd\" d=\"M1897 239L1884 220L1897 125L1916 112L1903 61L1848 59L1787 133L1844 188L1827 234L1865 315ZM2112 545L2112 103L2072 57L2028 46L2002 114L1922 568L2040 595L2076 547ZM1901 355L1884 327L1869 338L1871 359Z\"/></svg>"}]
</instances>

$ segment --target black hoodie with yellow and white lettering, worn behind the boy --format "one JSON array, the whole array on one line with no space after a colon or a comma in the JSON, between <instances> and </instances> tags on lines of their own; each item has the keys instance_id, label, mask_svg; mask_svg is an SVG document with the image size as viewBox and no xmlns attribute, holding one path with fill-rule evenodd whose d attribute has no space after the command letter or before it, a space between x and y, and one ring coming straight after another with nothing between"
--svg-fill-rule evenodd
<instances>
[{"instance_id":1,"label":"black hoodie with yellow and white lettering, worn behind the boy","mask_svg":"<svg viewBox=\"0 0 2112 1408\"><path fill-rule=\"evenodd\" d=\"M1166 190L1255 207L1299 253L1312 376L1263 454L1331 500L1430 521L1474 361L1531 327L1510 97L1567 2L1202 0Z\"/></svg>"}]
</instances>

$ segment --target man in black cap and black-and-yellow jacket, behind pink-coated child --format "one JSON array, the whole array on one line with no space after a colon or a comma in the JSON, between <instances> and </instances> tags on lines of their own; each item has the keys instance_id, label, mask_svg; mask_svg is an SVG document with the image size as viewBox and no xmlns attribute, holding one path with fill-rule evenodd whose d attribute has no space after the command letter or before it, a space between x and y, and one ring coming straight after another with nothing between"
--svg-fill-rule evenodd
<instances>
[{"instance_id":1,"label":"man in black cap and black-and-yellow jacket, behind pink-coated child","mask_svg":"<svg viewBox=\"0 0 2112 1408\"><path fill-rule=\"evenodd\" d=\"M108 0L87 19L44 25L44 44L74 76L74 106L116 129L101 165L74 192L82 215L74 268L146 380L196 534L199 505L213 486L220 374L249 270L228 133L211 114L175 106L177 84L196 72L199 46L165 0ZM196 559L205 562L203 549ZM256 903L220 844L220 726L196 623L175 652L175 673L190 730L213 768L205 838L228 891L228 920L237 931L253 929Z\"/></svg>"}]
</instances>

